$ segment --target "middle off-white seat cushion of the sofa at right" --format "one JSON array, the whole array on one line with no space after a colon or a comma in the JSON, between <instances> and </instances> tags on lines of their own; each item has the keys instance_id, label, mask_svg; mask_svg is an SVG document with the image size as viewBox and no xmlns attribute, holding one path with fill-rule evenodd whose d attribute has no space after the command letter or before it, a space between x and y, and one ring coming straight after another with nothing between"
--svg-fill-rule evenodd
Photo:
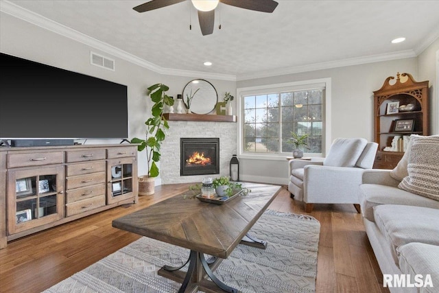
<instances>
[{"instance_id":1,"label":"middle off-white seat cushion of the sofa at right","mask_svg":"<svg viewBox=\"0 0 439 293\"><path fill-rule=\"evenodd\" d=\"M439 209L381 204L374 208L374 218L390 245L396 265L399 246L411 242L439 245Z\"/></svg>"}]
</instances>

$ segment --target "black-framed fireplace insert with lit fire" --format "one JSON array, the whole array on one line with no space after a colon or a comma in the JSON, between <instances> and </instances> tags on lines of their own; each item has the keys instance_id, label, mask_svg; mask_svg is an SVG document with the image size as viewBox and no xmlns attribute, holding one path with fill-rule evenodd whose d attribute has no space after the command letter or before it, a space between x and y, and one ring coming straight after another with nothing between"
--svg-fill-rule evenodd
<instances>
[{"instance_id":1,"label":"black-framed fireplace insert with lit fire","mask_svg":"<svg viewBox=\"0 0 439 293\"><path fill-rule=\"evenodd\" d=\"M180 176L219 174L219 138L180 139Z\"/></svg>"}]
</instances>

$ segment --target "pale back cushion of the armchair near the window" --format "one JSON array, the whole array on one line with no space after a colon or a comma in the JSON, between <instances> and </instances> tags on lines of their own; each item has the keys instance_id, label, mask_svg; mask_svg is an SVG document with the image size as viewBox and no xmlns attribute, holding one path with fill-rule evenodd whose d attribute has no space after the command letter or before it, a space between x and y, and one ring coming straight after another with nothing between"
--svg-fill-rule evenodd
<instances>
[{"instance_id":1,"label":"pale back cushion of the armchair near the window","mask_svg":"<svg viewBox=\"0 0 439 293\"><path fill-rule=\"evenodd\" d=\"M331 167L355 167L368 141L366 139L335 139L323 165Z\"/></svg>"}]
</instances>

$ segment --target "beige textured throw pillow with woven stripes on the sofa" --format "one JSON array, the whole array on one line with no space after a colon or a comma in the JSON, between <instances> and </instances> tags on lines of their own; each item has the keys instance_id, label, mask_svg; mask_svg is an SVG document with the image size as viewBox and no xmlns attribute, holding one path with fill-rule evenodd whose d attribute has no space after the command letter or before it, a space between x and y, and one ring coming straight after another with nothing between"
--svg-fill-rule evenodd
<instances>
[{"instance_id":1,"label":"beige textured throw pillow with woven stripes on the sofa","mask_svg":"<svg viewBox=\"0 0 439 293\"><path fill-rule=\"evenodd\" d=\"M407 164L408 176L398 187L439 200L439 135L418 137L412 144Z\"/></svg>"}]
</instances>

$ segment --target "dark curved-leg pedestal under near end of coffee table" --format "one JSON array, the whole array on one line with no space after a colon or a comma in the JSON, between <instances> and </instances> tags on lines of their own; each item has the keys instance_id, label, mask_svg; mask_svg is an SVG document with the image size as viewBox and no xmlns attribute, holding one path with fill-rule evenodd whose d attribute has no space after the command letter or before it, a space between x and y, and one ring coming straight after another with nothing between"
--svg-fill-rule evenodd
<instances>
[{"instance_id":1,"label":"dark curved-leg pedestal under near end of coffee table","mask_svg":"<svg viewBox=\"0 0 439 293\"><path fill-rule=\"evenodd\" d=\"M180 267L163 266L163 268L158 270L158 275L182 283L180 290L178 290L179 293L197 292L198 290L204 292L237 293L237 289L222 283L222 281L213 274L213 270L219 266L221 261L222 259L218 257L212 257L206 260L203 253L191 250L189 259L184 265ZM188 262L189 268L185 274L180 268L186 266ZM206 276L209 276L212 281L205 279Z\"/></svg>"}]
</instances>

